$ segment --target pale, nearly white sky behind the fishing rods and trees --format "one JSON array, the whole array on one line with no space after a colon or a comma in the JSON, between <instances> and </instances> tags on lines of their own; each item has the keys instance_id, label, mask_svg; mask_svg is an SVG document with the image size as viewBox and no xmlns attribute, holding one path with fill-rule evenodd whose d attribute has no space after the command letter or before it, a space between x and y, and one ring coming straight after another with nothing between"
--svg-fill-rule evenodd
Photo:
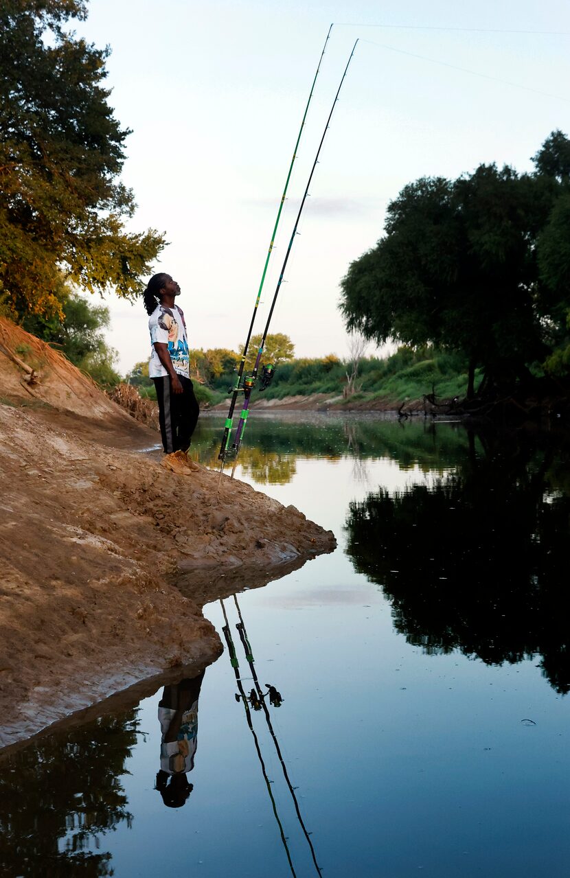
<instances>
[{"instance_id":1,"label":"pale, nearly white sky behind the fishing rods and trees","mask_svg":"<svg viewBox=\"0 0 570 878\"><path fill-rule=\"evenodd\" d=\"M192 348L240 349L328 27L256 319L261 332L343 68L272 332L296 356L347 356L339 283L383 233L386 205L421 176L481 162L519 171L570 133L570 4L559 0L90 0L76 32L108 45L123 180L169 246ZM509 32L505 32L509 31ZM149 356L147 320L111 294L119 371ZM371 346L368 350L373 353Z\"/></svg>"}]
</instances>

